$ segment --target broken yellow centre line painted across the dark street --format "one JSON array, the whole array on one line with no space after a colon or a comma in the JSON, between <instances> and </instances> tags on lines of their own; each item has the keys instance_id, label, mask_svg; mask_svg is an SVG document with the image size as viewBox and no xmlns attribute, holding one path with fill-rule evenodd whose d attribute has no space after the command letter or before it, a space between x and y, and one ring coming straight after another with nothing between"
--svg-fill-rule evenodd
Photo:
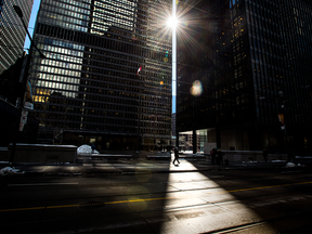
<instances>
[{"instance_id":1,"label":"broken yellow centre line painted across the dark street","mask_svg":"<svg viewBox=\"0 0 312 234\"><path fill-rule=\"evenodd\" d=\"M300 185L300 184L311 184L312 181L300 182L300 183L292 183L292 184L277 184L271 186L261 186L261 187L246 187L242 190L232 190L232 191L221 191L221 192L213 192L213 193L205 193L205 194L218 194L218 193L236 193L236 192L244 192L244 191L257 191L257 190L265 190L272 187L282 187L282 186L291 186L291 185ZM104 205L114 205L114 204L125 204L125 203L142 203L142 202L151 202L151 200L165 200L165 199L176 199L182 198L187 195L183 196L174 196L174 197L156 197L156 198L145 198L145 199L131 199L131 200L116 200L116 202L107 202L103 203ZM57 208L69 208L69 207L79 207L80 204L74 205L61 205L61 206L47 206L47 207L27 207L27 208L13 208L13 209L0 209L0 212L8 212L8 211L25 211L25 210L42 210L42 209L57 209Z\"/></svg>"}]
</instances>

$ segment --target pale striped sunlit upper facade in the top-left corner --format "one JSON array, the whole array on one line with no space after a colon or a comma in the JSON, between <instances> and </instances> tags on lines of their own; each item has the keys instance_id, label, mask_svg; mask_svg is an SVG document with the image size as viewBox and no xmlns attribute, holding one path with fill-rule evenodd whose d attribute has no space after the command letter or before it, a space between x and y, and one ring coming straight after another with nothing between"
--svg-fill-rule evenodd
<instances>
[{"instance_id":1,"label":"pale striped sunlit upper facade in the top-left corner","mask_svg":"<svg viewBox=\"0 0 312 234\"><path fill-rule=\"evenodd\" d=\"M23 9L23 20L29 23L34 0L0 0L0 74L13 65L17 57L22 57L26 30L13 5Z\"/></svg>"}]
</instances>

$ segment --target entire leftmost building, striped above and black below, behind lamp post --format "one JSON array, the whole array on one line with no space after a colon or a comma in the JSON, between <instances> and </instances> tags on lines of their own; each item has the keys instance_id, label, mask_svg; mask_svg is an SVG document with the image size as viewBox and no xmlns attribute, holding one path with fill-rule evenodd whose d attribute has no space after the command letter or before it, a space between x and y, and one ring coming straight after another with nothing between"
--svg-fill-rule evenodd
<instances>
[{"instance_id":1,"label":"entire leftmost building, striped above and black below, behind lamp post","mask_svg":"<svg viewBox=\"0 0 312 234\"><path fill-rule=\"evenodd\" d=\"M21 69L26 30L13 5L23 10L28 25L34 0L0 0L0 146L8 146L16 125L16 98L21 96Z\"/></svg>"}]
</instances>

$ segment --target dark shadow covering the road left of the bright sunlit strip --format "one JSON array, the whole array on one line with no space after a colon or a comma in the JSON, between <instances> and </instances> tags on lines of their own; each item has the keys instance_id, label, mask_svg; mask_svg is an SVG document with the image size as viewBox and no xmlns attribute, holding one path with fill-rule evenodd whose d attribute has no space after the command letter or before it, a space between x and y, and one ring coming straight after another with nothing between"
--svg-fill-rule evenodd
<instances>
[{"instance_id":1,"label":"dark shadow covering the road left of the bright sunlit strip","mask_svg":"<svg viewBox=\"0 0 312 234\"><path fill-rule=\"evenodd\" d=\"M1 178L0 227L8 233L159 233L169 174L152 173L157 165L146 162L118 165L127 173Z\"/></svg>"}]
</instances>

